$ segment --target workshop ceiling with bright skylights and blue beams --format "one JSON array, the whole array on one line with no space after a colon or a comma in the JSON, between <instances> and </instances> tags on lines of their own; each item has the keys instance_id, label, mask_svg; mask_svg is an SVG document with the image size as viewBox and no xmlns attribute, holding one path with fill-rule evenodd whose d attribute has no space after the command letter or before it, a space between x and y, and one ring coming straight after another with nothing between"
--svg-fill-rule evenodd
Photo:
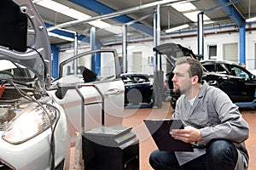
<instances>
[{"instance_id":1,"label":"workshop ceiling with bright skylights and blue beams","mask_svg":"<svg viewBox=\"0 0 256 170\"><path fill-rule=\"evenodd\" d=\"M36 0L34 0L35 2ZM183 13L178 12L170 5L166 5L163 1L155 0L54 0L55 2L64 4L70 8L79 10L84 14L89 14L92 19L77 22L67 15L57 13L49 8L44 8L36 4L38 12L44 20L47 27L56 26L61 28L50 30L64 37L74 37L73 32L77 32L79 40L82 42L90 42L89 21L99 19L107 22L113 27L115 33L106 31L96 27L96 41L102 46L108 44L116 44L122 42L122 26L125 23L136 22L128 26L127 37L129 41L151 38L153 39L154 31L154 12L156 11L156 3L160 3L160 30L164 34L166 29L189 24L188 29L196 29L196 22L186 18ZM187 0L189 1L189 0ZM169 0L169 2L185 2L184 0ZM245 20L256 16L255 0L190 0L196 8L207 15L212 21L206 26L244 26ZM62 25L62 26L61 26ZM166 35L166 34L165 34ZM168 35L166 35L168 36ZM50 42L55 46L63 46L72 44L70 40L64 40L60 37L51 37Z\"/></svg>"}]
</instances>

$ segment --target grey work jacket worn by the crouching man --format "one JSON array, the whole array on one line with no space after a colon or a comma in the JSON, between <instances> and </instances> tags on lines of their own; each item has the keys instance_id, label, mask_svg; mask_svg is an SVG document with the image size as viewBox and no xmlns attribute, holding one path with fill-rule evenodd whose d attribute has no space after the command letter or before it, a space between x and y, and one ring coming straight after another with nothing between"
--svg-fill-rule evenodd
<instances>
[{"instance_id":1,"label":"grey work jacket worn by the crouching man","mask_svg":"<svg viewBox=\"0 0 256 170\"><path fill-rule=\"evenodd\" d=\"M196 144L198 147L195 147L194 152L175 153L180 165L205 154L205 146L211 139L227 139L236 144L236 169L247 169L249 158L244 141L248 138L248 124L238 107L219 88L203 82L192 106L186 96L181 95L172 118L181 119L184 126L200 129L203 138L203 141Z\"/></svg>"}]
</instances>

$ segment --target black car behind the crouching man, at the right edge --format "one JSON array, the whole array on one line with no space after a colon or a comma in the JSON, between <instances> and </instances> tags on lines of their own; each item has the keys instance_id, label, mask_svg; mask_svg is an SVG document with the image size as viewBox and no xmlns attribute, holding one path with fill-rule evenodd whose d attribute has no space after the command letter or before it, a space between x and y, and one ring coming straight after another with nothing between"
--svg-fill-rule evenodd
<instances>
[{"instance_id":1,"label":"black car behind the crouching man, at the right edge","mask_svg":"<svg viewBox=\"0 0 256 170\"><path fill-rule=\"evenodd\" d=\"M253 102L256 77L235 62L226 60L202 60L207 70L203 79L222 89L234 103Z\"/></svg>"}]
</instances>

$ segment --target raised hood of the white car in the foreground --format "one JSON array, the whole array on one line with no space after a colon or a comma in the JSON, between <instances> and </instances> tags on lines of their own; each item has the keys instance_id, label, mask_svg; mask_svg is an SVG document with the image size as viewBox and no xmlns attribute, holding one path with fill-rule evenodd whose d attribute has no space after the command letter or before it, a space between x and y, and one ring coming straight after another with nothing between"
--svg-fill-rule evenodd
<instances>
[{"instance_id":1,"label":"raised hood of the white car in the foreground","mask_svg":"<svg viewBox=\"0 0 256 170\"><path fill-rule=\"evenodd\" d=\"M0 16L0 59L26 66L49 86L50 43L38 10L30 0L1 0Z\"/></svg>"}]
</instances>

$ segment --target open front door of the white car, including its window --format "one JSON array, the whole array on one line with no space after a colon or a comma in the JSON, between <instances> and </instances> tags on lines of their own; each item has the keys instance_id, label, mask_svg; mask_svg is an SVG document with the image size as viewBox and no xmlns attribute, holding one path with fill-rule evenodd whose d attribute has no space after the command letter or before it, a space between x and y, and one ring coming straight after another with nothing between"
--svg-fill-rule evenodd
<instances>
[{"instance_id":1,"label":"open front door of the white car, including its window","mask_svg":"<svg viewBox=\"0 0 256 170\"><path fill-rule=\"evenodd\" d=\"M96 74L95 80L84 82L84 67ZM115 50L98 49L67 59L60 64L59 77L55 96L67 112L72 143L76 132L122 125L125 88Z\"/></svg>"}]
</instances>

